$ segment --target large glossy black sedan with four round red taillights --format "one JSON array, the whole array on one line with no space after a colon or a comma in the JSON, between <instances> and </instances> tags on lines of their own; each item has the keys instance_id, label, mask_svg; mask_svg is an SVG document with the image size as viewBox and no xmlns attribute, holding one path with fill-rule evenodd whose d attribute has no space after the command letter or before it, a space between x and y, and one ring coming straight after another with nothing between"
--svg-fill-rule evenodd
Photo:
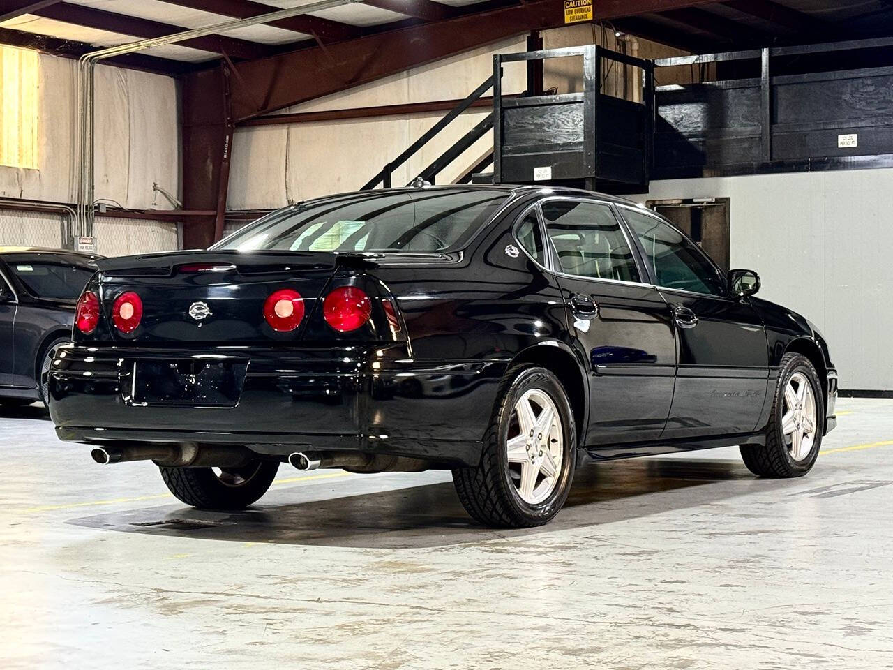
<instances>
[{"instance_id":1,"label":"large glossy black sedan with four round red taillights","mask_svg":"<svg viewBox=\"0 0 893 670\"><path fill-rule=\"evenodd\" d=\"M153 459L196 507L250 505L285 461L445 468L480 522L530 526L583 461L739 445L794 477L835 424L815 327L621 198L365 191L98 265L50 374L56 430Z\"/></svg>"}]
</instances>

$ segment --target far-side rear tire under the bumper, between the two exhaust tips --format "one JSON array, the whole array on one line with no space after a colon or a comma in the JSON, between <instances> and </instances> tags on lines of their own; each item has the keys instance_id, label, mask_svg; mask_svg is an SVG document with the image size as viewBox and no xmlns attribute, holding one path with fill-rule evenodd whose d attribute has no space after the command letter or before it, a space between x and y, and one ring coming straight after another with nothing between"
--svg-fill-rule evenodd
<instances>
[{"instance_id":1,"label":"far-side rear tire under the bumper, between the two exhaust tips","mask_svg":"<svg viewBox=\"0 0 893 670\"><path fill-rule=\"evenodd\" d=\"M240 468L159 465L158 469L171 493L187 505L200 509L243 509L267 492L279 462L256 459Z\"/></svg>"}]
</instances>

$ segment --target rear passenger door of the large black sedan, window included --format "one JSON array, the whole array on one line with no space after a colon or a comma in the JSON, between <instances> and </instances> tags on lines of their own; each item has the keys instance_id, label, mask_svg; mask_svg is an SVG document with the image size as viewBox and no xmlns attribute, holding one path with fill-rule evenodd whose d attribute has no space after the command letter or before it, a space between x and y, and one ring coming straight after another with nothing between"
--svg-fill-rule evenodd
<instances>
[{"instance_id":1,"label":"rear passenger door of the large black sedan, window included","mask_svg":"<svg viewBox=\"0 0 893 670\"><path fill-rule=\"evenodd\" d=\"M644 282L613 206L577 197L539 203L573 345L588 364L587 446L656 440L672 402L670 308Z\"/></svg>"}]
</instances>

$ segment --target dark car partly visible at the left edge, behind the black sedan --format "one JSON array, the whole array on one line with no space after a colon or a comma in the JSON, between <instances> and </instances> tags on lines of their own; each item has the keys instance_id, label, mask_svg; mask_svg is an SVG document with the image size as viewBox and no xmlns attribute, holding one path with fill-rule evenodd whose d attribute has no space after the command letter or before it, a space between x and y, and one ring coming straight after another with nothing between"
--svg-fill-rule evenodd
<instances>
[{"instance_id":1,"label":"dark car partly visible at the left edge, behind the black sedan","mask_svg":"<svg viewBox=\"0 0 893 670\"><path fill-rule=\"evenodd\" d=\"M50 354L71 322L99 256L0 247L0 404L46 402Z\"/></svg>"}]
</instances>

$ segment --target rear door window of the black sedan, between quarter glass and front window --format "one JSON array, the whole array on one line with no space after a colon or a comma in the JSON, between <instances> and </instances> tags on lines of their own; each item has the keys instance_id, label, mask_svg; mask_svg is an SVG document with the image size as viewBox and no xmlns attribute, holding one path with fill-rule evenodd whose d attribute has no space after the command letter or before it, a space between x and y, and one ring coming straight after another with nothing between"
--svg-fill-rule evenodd
<instances>
[{"instance_id":1,"label":"rear door window of the black sedan, between quarter glass and front window","mask_svg":"<svg viewBox=\"0 0 893 670\"><path fill-rule=\"evenodd\" d=\"M639 281L632 249L610 206L547 200L542 211L563 272L593 279Z\"/></svg>"}]
</instances>

